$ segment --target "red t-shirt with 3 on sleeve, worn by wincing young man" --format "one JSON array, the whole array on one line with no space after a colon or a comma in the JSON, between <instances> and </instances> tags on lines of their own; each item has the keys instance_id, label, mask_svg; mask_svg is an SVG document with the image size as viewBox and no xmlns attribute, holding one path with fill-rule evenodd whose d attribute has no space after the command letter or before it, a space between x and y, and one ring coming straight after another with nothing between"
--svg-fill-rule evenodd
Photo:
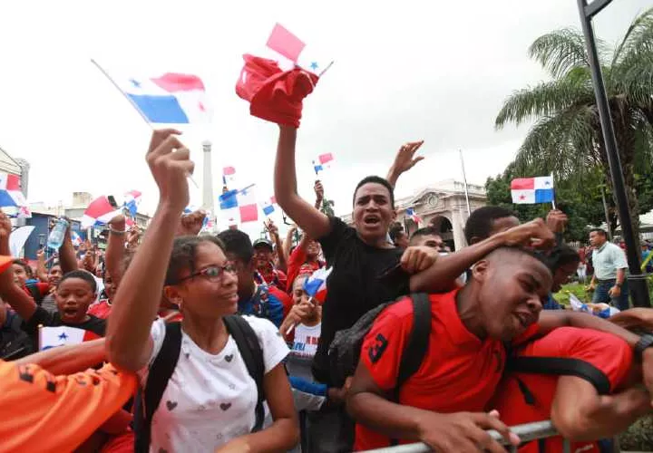
<instances>
[{"instance_id":1,"label":"red t-shirt with 3 on sleeve, worn by wincing young man","mask_svg":"<svg viewBox=\"0 0 653 453\"><path fill-rule=\"evenodd\" d=\"M436 412L482 411L501 381L506 352L499 340L480 340L461 321L458 290L431 294L431 339L420 369L404 382L399 403ZM399 361L413 329L413 304L406 298L376 318L363 342L361 362L382 390L395 389ZM517 341L537 333L531 325ZM400 441L410 443L412 441ZM356 450L382 448L390 438L356 424Z\"/></svg>"}]
</instances>

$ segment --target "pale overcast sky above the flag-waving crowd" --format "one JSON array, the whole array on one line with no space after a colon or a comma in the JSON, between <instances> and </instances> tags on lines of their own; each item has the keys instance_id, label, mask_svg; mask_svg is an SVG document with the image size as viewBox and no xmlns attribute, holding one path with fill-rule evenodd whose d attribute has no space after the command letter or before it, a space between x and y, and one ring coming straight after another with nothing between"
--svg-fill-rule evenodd
<instances>
[{"instance_id":1,"label":"pale overcast sky above the flag-waving crowd","mask_svg":"<svg viewBox=\"0 0 653 453\"><path fill-rule=\"evenodd\" d=\"M650 5L615 1L595 21L597 34L617 42ZM425 140L426 159L400 179L398 196L460 180L457 149L469 182L501 172L528 130L494 130L502 101L547 77L528 59L529 45L580 26L574 0L2 2L0 147L31 163L30 201L139 189L143 207L156 204L143 159L151 130L92 57L121 72L199 75L215 114L210 126L183 129L196 179L200 143L209 139L216 194L221 168L232 165L240 185L257 182L259 198L272 195L277 126L251 117L234 86L242 53L258 53L276 22L336 60L305 101L297 173L312 199L310 162L333 153L336 167L323 180L339 214L356 182L385 176L407 140ZM200 190L191 187L191 197L200 205Z\"/></svg>"}]
</instances>

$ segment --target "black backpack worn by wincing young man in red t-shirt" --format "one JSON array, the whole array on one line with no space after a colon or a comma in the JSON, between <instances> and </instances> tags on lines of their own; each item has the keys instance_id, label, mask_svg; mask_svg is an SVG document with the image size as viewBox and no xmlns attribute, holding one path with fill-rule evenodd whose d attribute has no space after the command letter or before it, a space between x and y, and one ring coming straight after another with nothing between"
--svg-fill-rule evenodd
<instances>
[{"instance_id":1,"label":"black backpack worn by wincing young man in red t-shirt","mask_svg":"<svg viewBox=\"0 0 653 453\"><path fill-rule=\"evenodd\" d=\"M408 343L402 352L402 361L399 364L395 397L399 395L399 389L411 376L419 370L428 349L429 337L431 336L431 301L428 294L416 293L410 295L413 301L413 330L410 333ZM381 304L361 316L349 329L336 332L333 342L329 346L329 365L332 384L340 387L349 376L354 375L358 360L361 354L361 347L365 335L372 328L376 317L385 307L403 300Z\"/></svg>"}]
</instances>

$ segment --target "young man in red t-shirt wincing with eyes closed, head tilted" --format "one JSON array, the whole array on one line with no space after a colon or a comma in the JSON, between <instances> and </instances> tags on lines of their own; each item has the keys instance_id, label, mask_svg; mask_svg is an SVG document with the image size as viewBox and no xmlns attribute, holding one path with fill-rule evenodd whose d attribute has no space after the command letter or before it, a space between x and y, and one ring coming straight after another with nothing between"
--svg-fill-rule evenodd
<instances>
[{"instance_id":1,"label":"young man in red t-shirt wincing with eyes closed, head tilted","mask_svg":"<svg viewBox=\"0 0 653 453\"><path fill-rule=\"evenodd\" d=\"M484 429L519 442L496 414L483 412L502 377L503 342L521 342L538 331L541 301L551 272L531 253L503 247L479 261L470 282L432 294L431 335L421 367L395 391L402 352L413 328L413 304L385 309L366 335L348 409L356 425L356 450L422 441L431 448L503 451Z\"/></svg>"}]
</instances>

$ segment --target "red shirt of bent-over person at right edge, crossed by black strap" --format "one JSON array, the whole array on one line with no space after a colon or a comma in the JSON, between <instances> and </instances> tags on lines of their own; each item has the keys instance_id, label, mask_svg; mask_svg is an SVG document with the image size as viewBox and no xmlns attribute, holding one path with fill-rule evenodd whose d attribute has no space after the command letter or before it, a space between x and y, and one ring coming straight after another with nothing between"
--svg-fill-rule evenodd
<instances>
[{"instance_id":1,"label":"red shirt of bent-over person at right edge, crossed by black strap","mask_svg":"<svg viewBox=\"0 0 653 453\"><path fill-rule=\"evenodd\" d=\"M518 355L528 357L556 357L585 361L601 371L609 380L610 391L619 387L629 372L632 350L627 342L609 333L575 327L560 327L547 336L526 344ZM525 400L519 379L534 397L532 404ZM558 376L544 374L508 374L493 400L492 409L499 410L501 419L509 426L551 419L551 405ZM587 449L585 449L587 448ZM538 442L531 441L519 449L521 453L538 453ZM546 439L547 452L561 452L560 436ZM599 453L596 442L571 442L571 451Z\"/></svg>"}]
</instances>

